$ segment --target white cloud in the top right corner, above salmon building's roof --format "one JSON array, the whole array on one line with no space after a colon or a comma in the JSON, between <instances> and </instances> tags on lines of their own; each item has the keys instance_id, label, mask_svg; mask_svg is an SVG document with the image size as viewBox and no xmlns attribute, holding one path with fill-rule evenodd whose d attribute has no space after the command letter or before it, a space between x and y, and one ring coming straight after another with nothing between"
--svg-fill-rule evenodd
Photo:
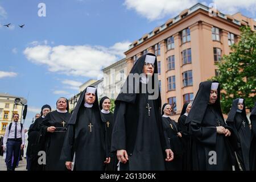
<instances>
[{"instance_id":1,"label":"white cloud in the top right corner, above salmon building's roof","mask_svg":"<svg viewBox=\"0 0 256 182\"><path fill-rule=\"evenodd\" d=\"M217 10L220 10L223 13L234 14L241 9L245 9L250 11L253 15L255 14L255 0L213 0L213 3L216 3Z\"/></svg>"}]
</instances>

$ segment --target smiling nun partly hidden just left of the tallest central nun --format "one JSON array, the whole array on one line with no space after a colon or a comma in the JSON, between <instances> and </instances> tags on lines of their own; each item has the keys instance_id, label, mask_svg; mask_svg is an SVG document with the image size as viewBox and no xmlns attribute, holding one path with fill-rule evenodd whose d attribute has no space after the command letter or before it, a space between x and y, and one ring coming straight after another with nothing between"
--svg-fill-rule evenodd
<instances>
[{"instance_id":1,"label":"smiling nun partly hidden just left of the tallest central nun","mask_svg":"<svg viewBox=\"0 0 256 182\"><path fill-rule=\"evenodd\" d=\"M110 99L108 97L102 97L100 100L100 109L101 109L101 118L102 121L105 123L106 127L106 143L108 144L108 148L111 147L111 137L112 131L114 126L114 114L109 111L111 106ZM106 171L117 171L117 155L116 154L109 154L108 156L111 157L110 163L106 165Z\"/></svg>"}]
</instances>

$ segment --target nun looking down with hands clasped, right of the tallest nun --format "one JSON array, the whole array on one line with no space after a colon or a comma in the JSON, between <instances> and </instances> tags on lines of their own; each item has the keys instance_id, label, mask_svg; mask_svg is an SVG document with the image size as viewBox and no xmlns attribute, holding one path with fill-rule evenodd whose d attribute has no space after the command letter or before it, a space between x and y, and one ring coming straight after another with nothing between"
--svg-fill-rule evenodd
<instances>
[{"instance_id":1,"label":"nun looking down with hands clasped, right of the tallest nun","mask_svg":"<svg viewBox=\"0 0 256 182\"><path fill-rule=\"evenodd\" d=\"M234 168L233 147L236 147L237 138L224 122L217 81L200 83L186 123L189 123L192 134L192 170L225 171Z\"/></svg>"}]
</instances>

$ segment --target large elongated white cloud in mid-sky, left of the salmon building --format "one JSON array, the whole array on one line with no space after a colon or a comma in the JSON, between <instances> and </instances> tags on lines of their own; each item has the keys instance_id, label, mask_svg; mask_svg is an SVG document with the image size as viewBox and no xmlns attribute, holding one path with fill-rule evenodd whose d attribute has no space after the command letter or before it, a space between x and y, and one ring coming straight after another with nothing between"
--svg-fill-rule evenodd
<instances>
[{"instance_id":1,"label":"large elongated white cloud in mid-sky, left of the salmon building","mask_svg":"<svg viewBox=\"0 0 256 182\"><path fill-rule=\"evenodd\" d=\"M112 47L103 46L48 46L27 47L24 55L35 64L45 64L50 72L65 75L96 78L101 69L125 57L130 42L115 43Z\"/></svg>"}]
</instances>

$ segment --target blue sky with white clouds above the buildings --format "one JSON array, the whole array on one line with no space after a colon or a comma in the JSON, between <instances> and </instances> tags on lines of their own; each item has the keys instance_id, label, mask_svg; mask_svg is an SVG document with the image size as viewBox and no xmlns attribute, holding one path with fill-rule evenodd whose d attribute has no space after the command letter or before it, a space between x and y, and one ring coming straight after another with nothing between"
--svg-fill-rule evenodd
<instances>
[{"instance_id":1,"label":"blue sky with white clouds above the buildings","mask_svg":"<svg viewBox=\"0 0 256 182\"><path fill-rule=\"evenodd\" d=\"M27 98L28 125L42 105L77 93L131 42L197 2L212 1L0 0L0 92ZM222 13L256 17L256 0L214 2Z\"/></svg>"}]
</instances>

